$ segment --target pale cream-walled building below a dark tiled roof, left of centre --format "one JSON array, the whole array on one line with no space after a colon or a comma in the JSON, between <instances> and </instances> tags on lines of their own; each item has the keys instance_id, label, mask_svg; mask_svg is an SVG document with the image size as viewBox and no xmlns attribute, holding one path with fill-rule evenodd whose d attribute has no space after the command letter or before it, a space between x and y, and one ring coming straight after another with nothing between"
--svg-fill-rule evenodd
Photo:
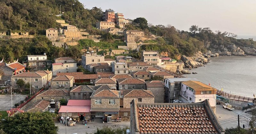
<instances>
[{"instance_id":1,"label":"pale cream-walled building below a dark tiled roof, left of centre","mask_svg":"<svg viewBox=\"0 0 256 134\"><path fill-rule=\"evenodd\" d=\"M52 75L57 73L76 72L76 63L52 63Z\"/></svg>"}]
</instances>

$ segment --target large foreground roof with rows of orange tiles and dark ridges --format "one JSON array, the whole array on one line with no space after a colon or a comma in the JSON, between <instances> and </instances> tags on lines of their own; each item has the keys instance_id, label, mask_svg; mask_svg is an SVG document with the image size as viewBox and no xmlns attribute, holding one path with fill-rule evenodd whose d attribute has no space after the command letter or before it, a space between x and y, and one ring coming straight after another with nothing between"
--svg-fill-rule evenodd
<instances>
[{"instance_id":1,"label":"large foreground roof with rows of orange tiles and dark ridges","mask_svg":"<svg viewBox=\"0 0 256 134\"><path fill-rule=\"evenodd\" d=\"M131 104L131 114L134 115L131 127L140 134L225 132L207 100L201 103L136 104L133 99Z\"/></svg>"}]
</instances>

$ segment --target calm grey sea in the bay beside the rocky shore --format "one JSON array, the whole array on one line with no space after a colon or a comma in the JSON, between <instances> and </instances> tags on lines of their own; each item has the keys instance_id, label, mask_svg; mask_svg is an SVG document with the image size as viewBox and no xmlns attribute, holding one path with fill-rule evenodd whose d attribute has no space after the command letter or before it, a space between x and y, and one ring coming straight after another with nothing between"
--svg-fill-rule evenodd
<instances>
[{"instance_id":1,"label":"calm grey sea in the bay beside the rocky shore","mask_svg":"<svg viewBox=\"0 0 256 134\"><path fill-rule=\"evenodd\" d=\"M205 67L192 68L188 78L196 78L205 84L234 95L256 95L256 56L220 56L209 58ZM188 69L188 68L185 68ZM198 74L192 74L196 72Z\"/></svg>"}]
</instances>

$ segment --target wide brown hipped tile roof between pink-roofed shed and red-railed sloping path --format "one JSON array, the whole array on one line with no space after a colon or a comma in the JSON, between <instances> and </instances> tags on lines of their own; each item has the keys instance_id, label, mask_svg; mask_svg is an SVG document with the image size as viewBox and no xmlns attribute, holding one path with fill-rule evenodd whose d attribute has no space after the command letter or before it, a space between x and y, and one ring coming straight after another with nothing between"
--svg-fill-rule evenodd
<instances>
[{"instance_id":1,"label":"wide brown hipped tile roof between pink-roofed shed and red-railed sloping path","mask_svg":"<svg viewBox=\"0 0 256 134\"><path fill-rule=\"evenodd\" d=\"M36 97L57 97L57 96L69 96L69 94L62 89L49 89L43 93L38 94Z\"/></svg>"}]
</instances>

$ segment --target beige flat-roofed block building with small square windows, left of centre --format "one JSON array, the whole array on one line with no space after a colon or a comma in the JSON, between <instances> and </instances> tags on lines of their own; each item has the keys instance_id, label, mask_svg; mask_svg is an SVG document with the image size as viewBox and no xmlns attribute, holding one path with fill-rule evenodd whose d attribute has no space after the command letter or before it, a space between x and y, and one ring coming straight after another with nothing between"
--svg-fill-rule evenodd
<instances>
[{"instance_id":1,"label":"beige flat-roofed block building with small square windows, left of centre","mask_svg":"<svg viewBox=\"0 0 256 134\"><path fill-rule=\"evenodd\" d=\"M82 66L86 69L88 64L105 62L105 56L97 55L97 53L86 53L82 55Z\"/></svg>"}]
</instances>

